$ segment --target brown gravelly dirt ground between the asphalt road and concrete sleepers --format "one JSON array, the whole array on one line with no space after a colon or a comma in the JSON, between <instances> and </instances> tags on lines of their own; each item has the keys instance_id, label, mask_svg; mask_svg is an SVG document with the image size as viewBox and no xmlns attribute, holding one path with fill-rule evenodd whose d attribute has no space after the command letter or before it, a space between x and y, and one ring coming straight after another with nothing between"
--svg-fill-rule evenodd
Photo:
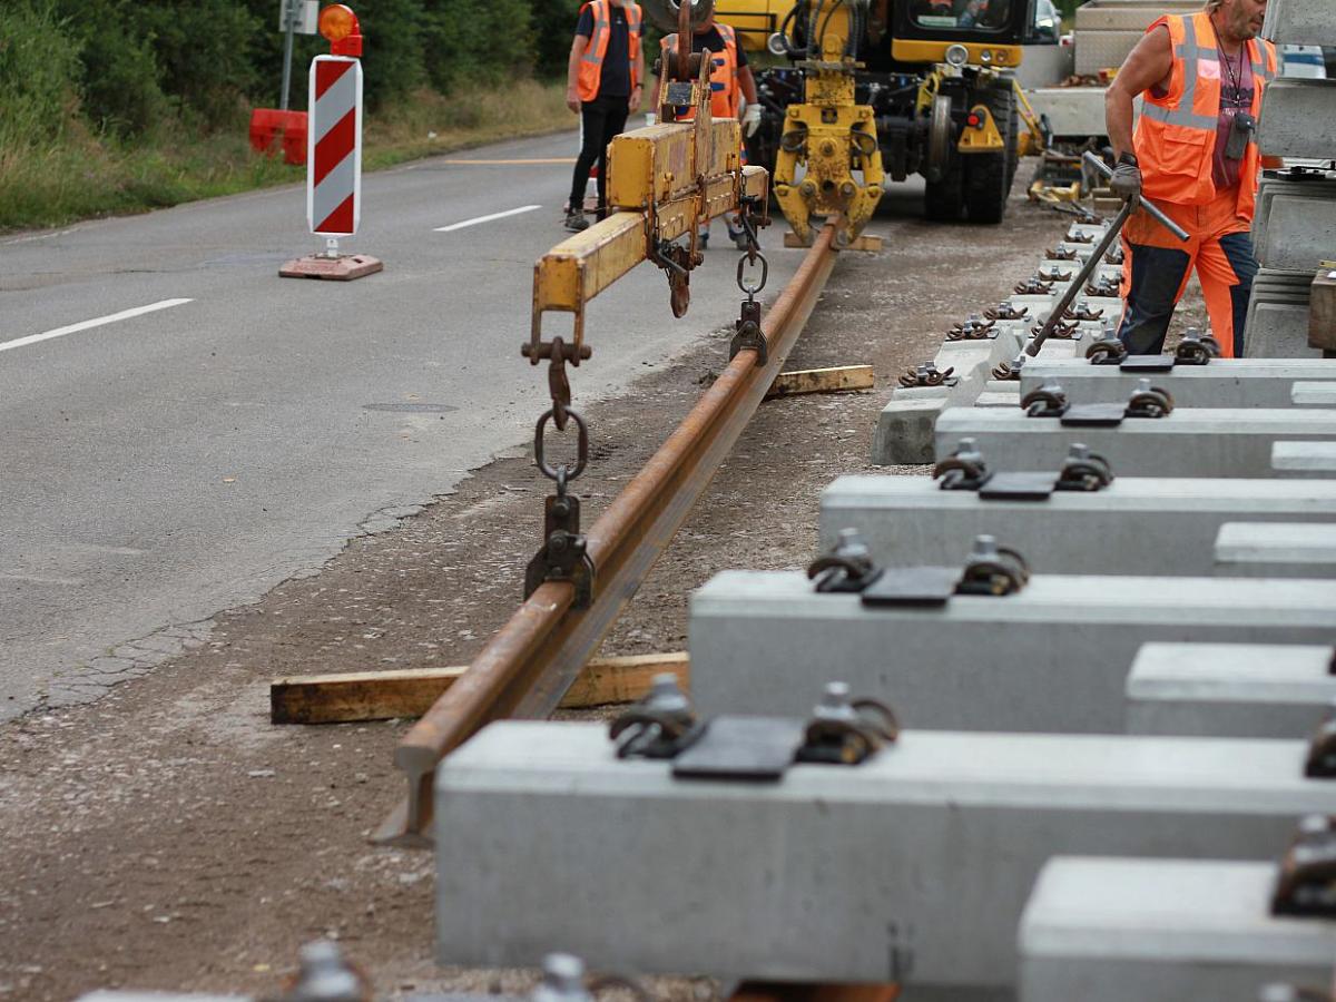
<instances>
[{"instance_id":1,"label":"brown gravelly dirt ground between the asphalt road and concrete sleepers","mask_svg":"<svg viewBox=\"0 0 1336 1002\"><path fill-rule=\"evenodd\" d=\"M931 224L912 200L890 199L871 228L884 250L840 258L788 363L870 362L876 389L764 403L604 653L683 649L687 596L717 570L804 566L820 490L872 469L895 378L930 358L954 321L1027 278L1065 227L1023 199L1002 227ZM732 253L709 254L732 267ZM725 334L703 337L633 391L585 409L596 444L578 482L588 522L725 358ZM466 664L518 603L545 493L517 448L319 574L219 615L206 640L146 677L0 728L0 998L266 994L317 937L342 942L378 995L526 986L525 971L437 967L432 856L366 840L403 794L391 752L407 723L271 727L267 685ZM713 990L677 982L671 994Z\"/></svg>"}]
</instances>

